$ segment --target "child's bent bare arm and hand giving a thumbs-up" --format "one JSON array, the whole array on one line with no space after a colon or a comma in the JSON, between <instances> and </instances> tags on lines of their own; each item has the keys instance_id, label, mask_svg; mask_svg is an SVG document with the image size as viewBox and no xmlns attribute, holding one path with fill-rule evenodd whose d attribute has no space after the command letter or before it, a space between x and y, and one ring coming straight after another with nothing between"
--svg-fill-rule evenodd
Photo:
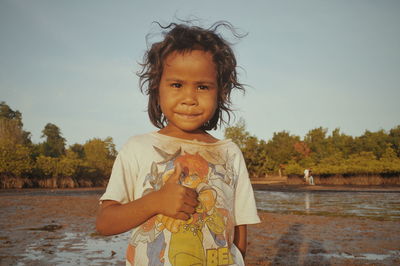
<instances>
[{"instance_id":1,"label":"child's bent bare arm and hand giving a thumbs-up","mask_svg":"<svg viewBox=\"0 0 400 266\"><path fill-rule=\"evenodd\" d=\"M97 231L102 235L120 234L157 214L188 220L198 205L197 193L178 184L181 172L178 164L160 190L132 202L121 204L113 200L103 201L96 220Z\"/></svg>"}]
</instances>

